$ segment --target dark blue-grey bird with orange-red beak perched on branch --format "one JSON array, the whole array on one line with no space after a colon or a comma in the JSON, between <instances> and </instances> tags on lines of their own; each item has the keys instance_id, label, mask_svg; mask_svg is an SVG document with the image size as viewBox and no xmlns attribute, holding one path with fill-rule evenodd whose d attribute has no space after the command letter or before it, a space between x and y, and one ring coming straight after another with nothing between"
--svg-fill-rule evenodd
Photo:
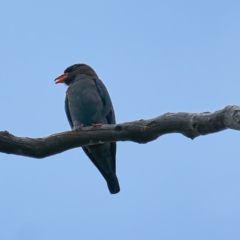
<instances>
[{"instance_id":1,"label":"dark blue-grey bird with orange-red beak perched on branch","mask_svg":"<svg viewBox=\"0 0 240 240\"><path fill-rule=\"evenodd\" d=\"M68 86L65 112L72 130L116 123L107 88L87 64L71 65L55 79L55 83L65 83ZM116 142L82 147L106 180L111 194L120 191L116 175L116 148Z\"/></svg>"}]
</instances>

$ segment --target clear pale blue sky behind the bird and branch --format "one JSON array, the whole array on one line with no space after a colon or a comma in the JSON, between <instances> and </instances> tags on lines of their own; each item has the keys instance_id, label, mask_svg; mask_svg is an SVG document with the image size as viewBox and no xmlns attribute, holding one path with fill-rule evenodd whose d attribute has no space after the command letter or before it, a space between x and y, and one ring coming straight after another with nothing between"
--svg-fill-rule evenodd
<instances>
[{"instance_id":1,"label":"clear pale blue sky behind the bird and branch","mask_svg":"<svg viewBox=\"0 0 240 240\"><path fill-rule=\"evenodd\" d=\"M240 103L240 1L1 1L0 131L70 129L66 86L86 63L117 122ZM79 148L0 153L0 239L221 240L240 236L240 133L119 142L111 195Z\"/></svg>"}]
</instances>

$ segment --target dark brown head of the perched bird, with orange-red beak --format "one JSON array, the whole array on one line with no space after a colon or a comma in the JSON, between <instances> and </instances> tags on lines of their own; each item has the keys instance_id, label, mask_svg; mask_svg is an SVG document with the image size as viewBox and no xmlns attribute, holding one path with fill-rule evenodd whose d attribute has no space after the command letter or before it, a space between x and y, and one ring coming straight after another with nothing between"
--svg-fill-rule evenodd
<instances>
[{"instance_id":1,"label":"dark brown head of the perched bird, with orange-red beak","mask_svg":"<svg viewBox=\"0 0 240 240\"><path fill-rule=\"evenodd\" d=\"M69 85L78 74L84 74L92 77L93 79L98 78L97 74L90 66L78 63L66 68L64 73L55 79L55 83L65 83Z\"/></svg>"}]
</instances>

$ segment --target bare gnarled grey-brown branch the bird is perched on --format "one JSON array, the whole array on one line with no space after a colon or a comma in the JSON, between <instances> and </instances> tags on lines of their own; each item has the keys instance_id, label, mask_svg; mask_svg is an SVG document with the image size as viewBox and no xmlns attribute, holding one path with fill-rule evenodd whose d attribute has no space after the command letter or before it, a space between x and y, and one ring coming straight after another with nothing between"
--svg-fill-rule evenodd
<instances>
[{"instance_id":1,"label":"bare gnarled grey-brown branch the bird is perched on","mask_svg":"<svg viewBox=\"0 0 240 240\"><path fill-rule=\"evenodd\" d=\"M227 106L213 113L165 113L149 120L84 127L79 131L67 131L44 138L16 137L7 131L0 131L0 152L44 158L72 148L104 142L147 143L168 133L181 133L194 139L227 128L240 130L240 106Z\"/></svg>"}]
</instances>

